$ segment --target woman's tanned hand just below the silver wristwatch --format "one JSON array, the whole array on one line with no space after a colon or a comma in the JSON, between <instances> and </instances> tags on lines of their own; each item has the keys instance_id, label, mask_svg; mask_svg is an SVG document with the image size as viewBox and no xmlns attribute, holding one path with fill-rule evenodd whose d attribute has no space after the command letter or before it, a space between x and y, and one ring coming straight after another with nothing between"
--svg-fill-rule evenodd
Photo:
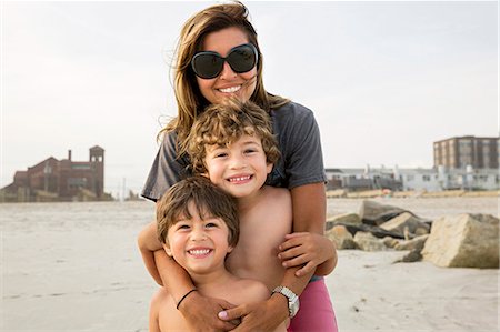
<instances>
[{"instance_id":1,"label":"woman's tanned hand just below the silver wristwatch","mask_svg":"<svg viewBox=\"0 0 500 332\"><path fill-rule=\"evenodd\" d=\"M273 294L266 301L242 304L219 313L224 321L241 320L232 331L274 331L288 319L288 300L281 294Z\"/></svg>"}]
</instances>

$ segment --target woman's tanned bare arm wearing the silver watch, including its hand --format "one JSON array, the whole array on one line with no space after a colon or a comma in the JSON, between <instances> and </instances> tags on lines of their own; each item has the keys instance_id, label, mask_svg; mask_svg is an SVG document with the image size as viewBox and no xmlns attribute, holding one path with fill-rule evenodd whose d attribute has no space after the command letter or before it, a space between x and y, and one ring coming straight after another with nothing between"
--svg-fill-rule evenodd
<instances>
[{"instance_id":1,"label":"woman's tanned bare arm wearing the silver watch, including its hand","mask_svg":"<svg viewBox=\"0 0 500 332\"><path fill-rule=\"evenodd\" d=\"M326 220L326 193L323 183L299 185L291 190L293 209L293 231L322 234ZM281 285L300 295L306 289L313 271L297 276L299 268L289 268L284 272ZM244 304L219 314L223 320L242 316L241 324L234 331L272 331L288 318L288 301L281 294L257 304Z\"/></svg>"}]
</instances>

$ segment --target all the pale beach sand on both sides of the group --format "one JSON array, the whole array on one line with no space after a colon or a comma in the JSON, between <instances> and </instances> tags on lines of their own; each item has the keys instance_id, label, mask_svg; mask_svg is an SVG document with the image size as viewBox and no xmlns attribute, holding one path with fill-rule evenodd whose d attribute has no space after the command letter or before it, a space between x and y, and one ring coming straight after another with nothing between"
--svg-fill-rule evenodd
<instances>
[{"instance_id":1,"label":"all the pale beach sand on both sides of the group","mask_svg":"<svg viewBox=\"0 0 500 332\"><path fill-rule=\"evenodd\" d=\"M329 200L329 213L360 200ZM386 200L426 218L498 215L498 198ZM407 204L407 205L404 205ZM150 202L0 204L1 331L147 331L156 284L136 248ZM498 331L499 271L339 251L327 278L340 331Z\"/></svg>"}]
</instances>

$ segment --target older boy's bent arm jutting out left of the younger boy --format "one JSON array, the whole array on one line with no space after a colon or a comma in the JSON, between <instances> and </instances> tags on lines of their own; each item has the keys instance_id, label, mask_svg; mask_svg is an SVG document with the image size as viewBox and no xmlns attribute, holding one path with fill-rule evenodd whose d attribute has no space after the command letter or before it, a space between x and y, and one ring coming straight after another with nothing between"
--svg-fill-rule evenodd
<instances>
[{"instance_id":1,"label":"older boy's bent arm jutting out left of the younger boy","mask_svg":"<svg viewBox=\"0 0 500 332\"><path fill-rule=\"evenodd\" d=\"M142 231L139 233L137 242L149 274L151 274L151 276L159 285L163 285L160 273L158 272L157 264L154 262L154 251L163 250L160 241L157 238L156 221L151 222L142 229Z\"/></svg>"}]
</instances>

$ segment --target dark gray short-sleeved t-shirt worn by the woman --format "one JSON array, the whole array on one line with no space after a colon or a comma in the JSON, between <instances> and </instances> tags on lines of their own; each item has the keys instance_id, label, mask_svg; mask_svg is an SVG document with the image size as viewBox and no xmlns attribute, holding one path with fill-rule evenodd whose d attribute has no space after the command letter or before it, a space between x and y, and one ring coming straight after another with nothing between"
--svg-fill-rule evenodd
<instances>
[{"instance_id":1,"label":"dark gray short-sleeved t-shirt worn by the woman","mask_svg":"<svg viewBox=\"0 0 500 332\"><path fill-rule=\"evenodd\" d=\"M289 102L270 112L272 129L281 151L267 184L292 189L326 182L318 123L311 110ZM191 174L189 158L178 158L177 134L166 133L141 195L157 201L176 182Z\"/></svg>"}]
</instances>

